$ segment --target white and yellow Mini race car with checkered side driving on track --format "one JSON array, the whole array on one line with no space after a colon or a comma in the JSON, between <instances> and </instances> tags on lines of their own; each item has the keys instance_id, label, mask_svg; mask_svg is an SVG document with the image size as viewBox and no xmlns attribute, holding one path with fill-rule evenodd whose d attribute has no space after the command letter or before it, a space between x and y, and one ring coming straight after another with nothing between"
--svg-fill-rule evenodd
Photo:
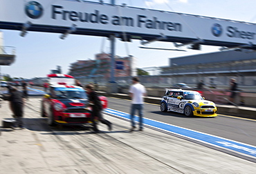
<instances>
[{"instance_id":1,"label":"white and yellow Mini race car with checkered side driving on track","mask_svg":"<svg viewBox=\"0 0 256 174\"><path fill-rule=\"evenodd\" d=\"M217 107L214 102L205 100L194 90L165 89L161 100L162 112L174 111L186 116L216 117Z\"/></svg>"}]
</instances>

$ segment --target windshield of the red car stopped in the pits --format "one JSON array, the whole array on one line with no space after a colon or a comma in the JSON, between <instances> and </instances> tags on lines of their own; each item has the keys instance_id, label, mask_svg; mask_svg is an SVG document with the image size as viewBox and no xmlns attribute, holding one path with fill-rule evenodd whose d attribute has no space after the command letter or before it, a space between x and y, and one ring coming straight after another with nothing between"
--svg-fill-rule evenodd
<instances>
[{"instance_id":1,"label":"windshield of the red car stopped in the pits","mask_svg":"<svg viewBox=\"0 0 256 174\"><path fill-rule=\"evenodd\" d=\"M68 90L60 90L59 88L53 90L53 95L56 99L86 99L87 95L84 90L74 88Z\"/></svg>"}]
</instances>

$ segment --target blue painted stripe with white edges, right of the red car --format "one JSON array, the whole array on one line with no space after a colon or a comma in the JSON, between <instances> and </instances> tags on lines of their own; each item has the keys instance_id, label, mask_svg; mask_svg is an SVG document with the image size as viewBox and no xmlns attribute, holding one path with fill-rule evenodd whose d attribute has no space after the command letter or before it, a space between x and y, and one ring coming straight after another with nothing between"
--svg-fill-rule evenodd
<instances>
[{"instance_id":1,"label":"blue painted stripe with white edges, right of the red car","mask_svg":"<svg viewBox=\"0 0 256 174\"><path fill-rule=\"evenodd\" d=\"M123 113L118 110L113 110L110 108L107 108L104 110L106 113L116 115L118 117L130 119L130 115L128 113ZM138 122L138 117L134 117L135 121ZM188 137L190 139L195 139L199 142L203 142L205 144L210 144L212 146L217 146L221 148L226 148L235 152L239 152L245 155L250 155L253 157L256 157L256 147L251 146L249 144L244 144L241 142L235 142L230 139L217 137L214 135L209 135L206 133L201 133L199 131L193 131L188 128L182 128L179 126L174 126L172 124L166 124L163 122L158 122L152 119L143 119L144 124L147 124L149 126L153 126L155 128L159 128L163 131L169 131L171 133L175 133L176 135L181 135L183 137Z\"/></svg>"}]
</instances>

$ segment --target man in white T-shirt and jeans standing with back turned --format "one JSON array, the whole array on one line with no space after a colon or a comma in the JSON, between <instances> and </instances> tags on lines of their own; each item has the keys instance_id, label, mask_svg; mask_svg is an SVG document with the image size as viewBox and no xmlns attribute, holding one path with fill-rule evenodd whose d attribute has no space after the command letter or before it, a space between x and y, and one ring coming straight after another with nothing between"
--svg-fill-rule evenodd
<instances>
[{"instance_id":1,"label":"man in white T-shirt and jeans standing with back turned","mask_svg":"<svg viewBox=\"0 0 256 174\"><path fill-rule=\"evenodd\" d=\"M143 131L143 97L146 95L145 87L140 84L140 80L138 77L132 78L132 86L129 88L129 96L132 99L131 102L131 129L130 131L134 131L136 128L134 122L134 114L135 111L138 110L139 116L139 131Z\"/></svg>"}]
</instances>

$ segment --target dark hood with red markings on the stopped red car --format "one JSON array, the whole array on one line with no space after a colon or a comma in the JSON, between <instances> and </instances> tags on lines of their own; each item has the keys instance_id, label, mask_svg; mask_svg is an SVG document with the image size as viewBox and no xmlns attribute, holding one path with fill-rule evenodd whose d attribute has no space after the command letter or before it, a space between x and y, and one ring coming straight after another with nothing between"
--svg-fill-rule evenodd
<instances>
[{"instance_id":1,"label":"dark hood with red markings on the stopped red car","mask_svg":"<svg viewBox=\"0 0 256 174\"><path fill-rule=\"evenodd\" d=\"M88 106L88 99L57 99L67 108L84 108Z\"/></svg>"}]
</instances>

